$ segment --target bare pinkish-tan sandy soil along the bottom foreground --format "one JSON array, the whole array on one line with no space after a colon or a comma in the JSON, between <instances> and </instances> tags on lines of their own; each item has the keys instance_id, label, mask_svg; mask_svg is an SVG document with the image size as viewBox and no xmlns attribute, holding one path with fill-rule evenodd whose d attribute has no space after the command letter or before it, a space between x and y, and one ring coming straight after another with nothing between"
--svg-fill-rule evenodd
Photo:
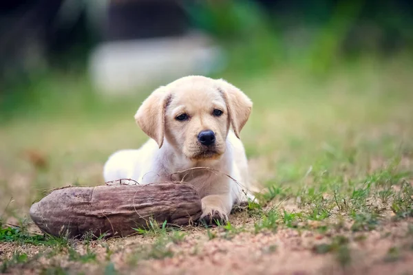
<instances>
[{"instance_id":1,"label":"bare pinkish-tan sandy soil along the bottom foreground","mask_svg":"<svg viewBox=\"0 0 413 275\"><path fill-rule=\"evenodd\" d=\"M147 259L145 254L152 253L151 245L158 237L142 235L92 241L89 248L81 242L73 244L80 254L85 254L87 249L96 253L96 262L68 261L65 250L50 256L55 248L16 243L0 243L0 255L1 259L10 259L14 252L24 252L32 257L28 263L10 268L10 274L48 274L58 266L68 274L108 274L112 264L118 274L377 275L412 272L413 235L409 225L413 219L388 221L370 232L354 233L344 226L317 233L317 227L322 224L309 223L311 230L279 228L277 232L264 230L255 234L251 226L253 219L245 221L245 218L244 213L231 217L234 226L244 225L244 232L214 228L208 234L204 228L184 228L182 241L162 245L162 251L171 252L171 257L164 255L163 259ZM209 237L211 234L213 239ZM320 245L331 243L337 236L348 239L348 254L317 252Z\"/></svg>"}]
</instances>

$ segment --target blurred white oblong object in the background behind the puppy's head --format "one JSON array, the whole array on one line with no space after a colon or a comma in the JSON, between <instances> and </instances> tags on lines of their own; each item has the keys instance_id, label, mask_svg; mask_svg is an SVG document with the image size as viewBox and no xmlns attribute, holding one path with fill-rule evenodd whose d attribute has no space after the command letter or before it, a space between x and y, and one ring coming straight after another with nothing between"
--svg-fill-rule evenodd
<instances>
[{"instance_id":1,"label":"blurred white oblong object in the background behind the puppy's head","mask_svg":"<svg viewBox=\"0 0 413 275\"><path fill-rule=\"evenodd\" d=\"M99 91L126 94L182 76L211 74L224 65L222 50L208 36L189 33L103 43L92 52L89 72Z\"/></svg>"}]
</instances>

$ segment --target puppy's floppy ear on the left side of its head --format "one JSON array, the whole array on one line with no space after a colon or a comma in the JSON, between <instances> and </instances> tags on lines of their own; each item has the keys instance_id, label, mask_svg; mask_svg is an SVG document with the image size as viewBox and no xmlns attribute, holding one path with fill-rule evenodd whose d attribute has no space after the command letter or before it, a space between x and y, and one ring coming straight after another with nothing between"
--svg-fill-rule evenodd
<instances>
[{"instance_id":1,"label":"puppy's floppy ear on the left side of its head","mask_svg":"<svg viewBox=\"0 0 413 275\"><path fill-rule=\"evenodd\" d=\"M162 147L165 131L165 109L171 98L166 87L159 87L142 102L135 115L135 121L159 148Z\"/></svg>"}]
</instances>

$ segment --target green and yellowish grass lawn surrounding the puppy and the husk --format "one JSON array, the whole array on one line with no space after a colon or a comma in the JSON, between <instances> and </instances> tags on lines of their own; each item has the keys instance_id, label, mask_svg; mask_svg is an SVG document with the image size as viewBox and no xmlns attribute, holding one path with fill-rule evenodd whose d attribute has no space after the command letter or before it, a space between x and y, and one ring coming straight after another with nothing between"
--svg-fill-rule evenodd
<instances>
[{"instance_id":1,"label":"green and yellowish grass lawn surrounding the puppy and the husk","mask_svg":"<svg viewBox=\"0 0 413 275\"><path fill-rule=\"evenodd\" d=\"M365 58L343 63L324 78L288 66L248 78L229 74L254 102L242 140L253 178L266 192L218 228L171 230L150 220L149 229L136 230L137 243L130 248L123 239L73 242L29 233L28 223L8 225L23 221L31 203L50 188L101 184L110 153L147 139L132 115L153 87L107 99L93 94L82 77L39 77L29 87L30 98L7 111L0 129L0 247L6 248L1 270L33 267L38 255L54 259L35 266L42 274L80 272L85 266L116 274L146 261L185 253L198 257L208 249L202 240L235 243L239 236L264 238L288 230L322 237L313 253L353 265L351 244L370 241L372 230L407 222L405 238L412 234L412 73L403 58ZM23 250L28 248L36 252ZM270 256L284 249L267 243L259 251ZM410 251L396 245L385 250L383 262ZM128 260L119 262L119 254Z\"/></svg>"}]
</instances>

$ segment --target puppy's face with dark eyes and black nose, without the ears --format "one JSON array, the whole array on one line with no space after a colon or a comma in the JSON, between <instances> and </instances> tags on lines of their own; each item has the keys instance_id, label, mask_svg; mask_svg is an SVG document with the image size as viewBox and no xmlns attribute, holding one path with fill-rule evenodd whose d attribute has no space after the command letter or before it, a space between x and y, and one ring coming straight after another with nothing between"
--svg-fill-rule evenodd
<instances>
[{"instance_id":1,"label":"puppy's face with dark eyes and black nose, without the ears","mask_svg":"<svg viewBox=\"0 0 413 275\"><path fill-rule=\"evenodd\" d=\"M194 79L169 87L165 138L189 159L209 159L225 151L229 131L226 102L211 80Z\"/></svg>"}]
</instances>

